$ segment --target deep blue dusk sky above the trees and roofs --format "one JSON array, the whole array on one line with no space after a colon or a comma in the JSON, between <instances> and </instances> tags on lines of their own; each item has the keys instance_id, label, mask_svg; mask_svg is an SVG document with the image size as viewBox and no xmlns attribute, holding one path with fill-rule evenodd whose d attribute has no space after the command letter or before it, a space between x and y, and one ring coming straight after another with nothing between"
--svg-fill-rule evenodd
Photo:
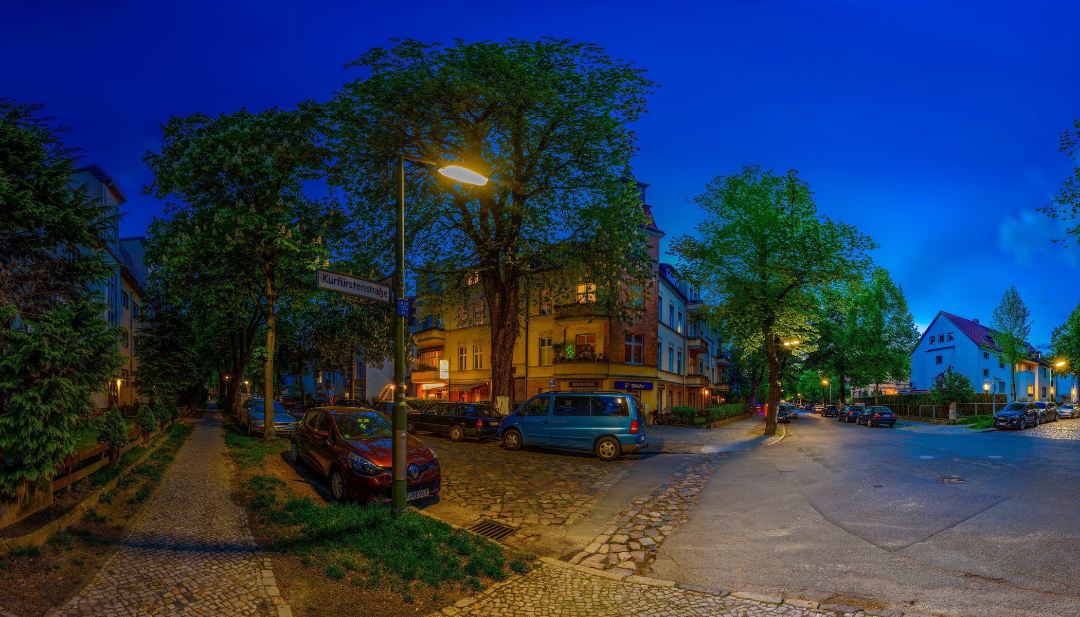
<instances>
[{"instance_id":1,"label":"deep blue dusk sky above the trees and roofs","mask_svg":"<svg viewBox=\"0 0 1080 617\"><path fill-rule=\"evenodd\" d=\"M390 38L595 42L661 85L633 164L667 239L692 232L686 198L712 177L797 169L823 214L881 245L920 326L987 323L1015 284L1041 345L1080 299L1080 252L1035 212L1072 164L1057 148L1080 118L1078 28L1076 0L18 3L0 96L72 128L135 236L161 214L141 159L170 116L325 100Z\"/></svg>"}]
</instances>

